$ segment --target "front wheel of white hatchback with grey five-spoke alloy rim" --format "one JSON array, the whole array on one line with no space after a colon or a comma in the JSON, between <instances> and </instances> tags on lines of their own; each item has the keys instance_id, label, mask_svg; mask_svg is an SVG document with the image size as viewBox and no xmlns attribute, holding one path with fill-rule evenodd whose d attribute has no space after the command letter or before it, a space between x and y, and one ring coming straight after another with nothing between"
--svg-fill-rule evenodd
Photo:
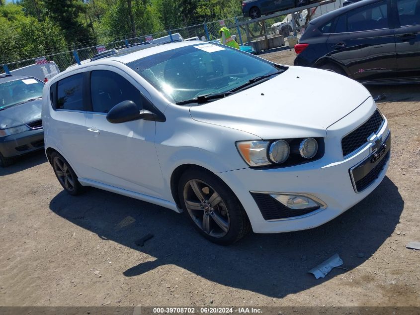
<instances>
[{"instance_id":1,"label":"front wheel of white hatchback with grey five-spoke alloy rim","mask_svg":"<svg viewBox=\"0 0 420 315\"><path fill-rule=\"evenodd\" d=\"M194 227L213 243L232 244L251 229L238 198L214 174L198 168L187 170L179 180L178 195Z\"/></svg>"}]
</instances>

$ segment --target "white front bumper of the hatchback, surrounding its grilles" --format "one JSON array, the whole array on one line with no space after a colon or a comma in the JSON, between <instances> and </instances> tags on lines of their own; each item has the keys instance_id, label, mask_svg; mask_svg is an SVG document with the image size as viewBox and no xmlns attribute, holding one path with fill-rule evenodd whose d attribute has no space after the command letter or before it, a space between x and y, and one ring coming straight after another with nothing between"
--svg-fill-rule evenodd
<instances>
[{"instance_id":1,"label":"white front bumper of the hatchback, surrounding its grilles","mask_svg":"<svg viewBox=\"0 0 420 315\"><path fill-rule=\"evenodd\" d=\"M354 115L360 116L360 113L365 111L366 114L355 119ZM355 125L360 125L371 113L371 108L365 105L364 108L355 110L329 127L325 138L326 154L320 160L293 167L264 170L246 168L218 174L241 201L254 232L288 232L319 226L359 203L382 182L389 166L390 150L387 151L389 154L384 156L383 164L375 179L362 191L356 192L350 169L360 165L372 155L373 144L366 144L345 159L342 157L342 152L340 153L341 147L336 145L336 134L346 134L346 131L354 129ZM388 140L390 131L386 119L377 134L382 137L384 143ZM341 154L340 158L337 157L338 153ZM251 192L314 196L323 201L327 207L300 216L266 220Z\"/></svg>"}]
</instances>

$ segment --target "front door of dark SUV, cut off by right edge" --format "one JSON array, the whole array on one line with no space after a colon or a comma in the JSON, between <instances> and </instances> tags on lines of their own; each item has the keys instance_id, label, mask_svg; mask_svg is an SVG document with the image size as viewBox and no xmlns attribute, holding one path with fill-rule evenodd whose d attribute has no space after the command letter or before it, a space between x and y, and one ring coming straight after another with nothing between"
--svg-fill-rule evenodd
<instances>
[{"instance_id":1,"label":"front door of dark SUV, cut off by right edge","mask_svg":"<svg viewBox=\"0 0 420 315\"><path fill-rule=\"evenodd\" d=\"M420 0L396 0L395 40L400 78L420 76Z\"/></svg>"}]
</instances>

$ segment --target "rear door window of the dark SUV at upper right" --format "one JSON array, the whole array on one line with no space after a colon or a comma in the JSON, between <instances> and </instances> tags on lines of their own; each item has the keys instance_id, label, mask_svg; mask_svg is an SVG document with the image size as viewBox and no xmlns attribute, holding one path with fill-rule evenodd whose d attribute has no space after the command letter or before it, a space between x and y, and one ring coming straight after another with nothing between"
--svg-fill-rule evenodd
<instances>
[{"instance_id":1,"label":"rear door window of the dark SUV at upper right","mask_svg":"<svg viewBox=\"0 0 420 315\"><path fill-rule=\"evenodd\" d=\"M388 28L387 2L366 5L347 12L349 32Z\"/></svg>"}]
</instances>

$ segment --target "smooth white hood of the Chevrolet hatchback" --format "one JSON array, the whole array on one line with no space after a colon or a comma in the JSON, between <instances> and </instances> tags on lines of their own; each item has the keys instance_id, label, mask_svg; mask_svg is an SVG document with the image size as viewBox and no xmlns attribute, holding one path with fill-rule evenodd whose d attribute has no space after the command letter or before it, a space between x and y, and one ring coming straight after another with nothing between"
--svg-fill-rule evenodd
<instances>
[{"instance_id":1,"label":"smooth white hood of the Chevrolet hatchback","mask_svg":"<svg viewBox=\"0 0 420 315\"><path fill-rule=\"evenodd\" d=\"M224 99L191 106L191 117L262 139L325 137L326 129L370 93L342 75L289 67L272 79Z\"/></svg>"}]
</instances>

